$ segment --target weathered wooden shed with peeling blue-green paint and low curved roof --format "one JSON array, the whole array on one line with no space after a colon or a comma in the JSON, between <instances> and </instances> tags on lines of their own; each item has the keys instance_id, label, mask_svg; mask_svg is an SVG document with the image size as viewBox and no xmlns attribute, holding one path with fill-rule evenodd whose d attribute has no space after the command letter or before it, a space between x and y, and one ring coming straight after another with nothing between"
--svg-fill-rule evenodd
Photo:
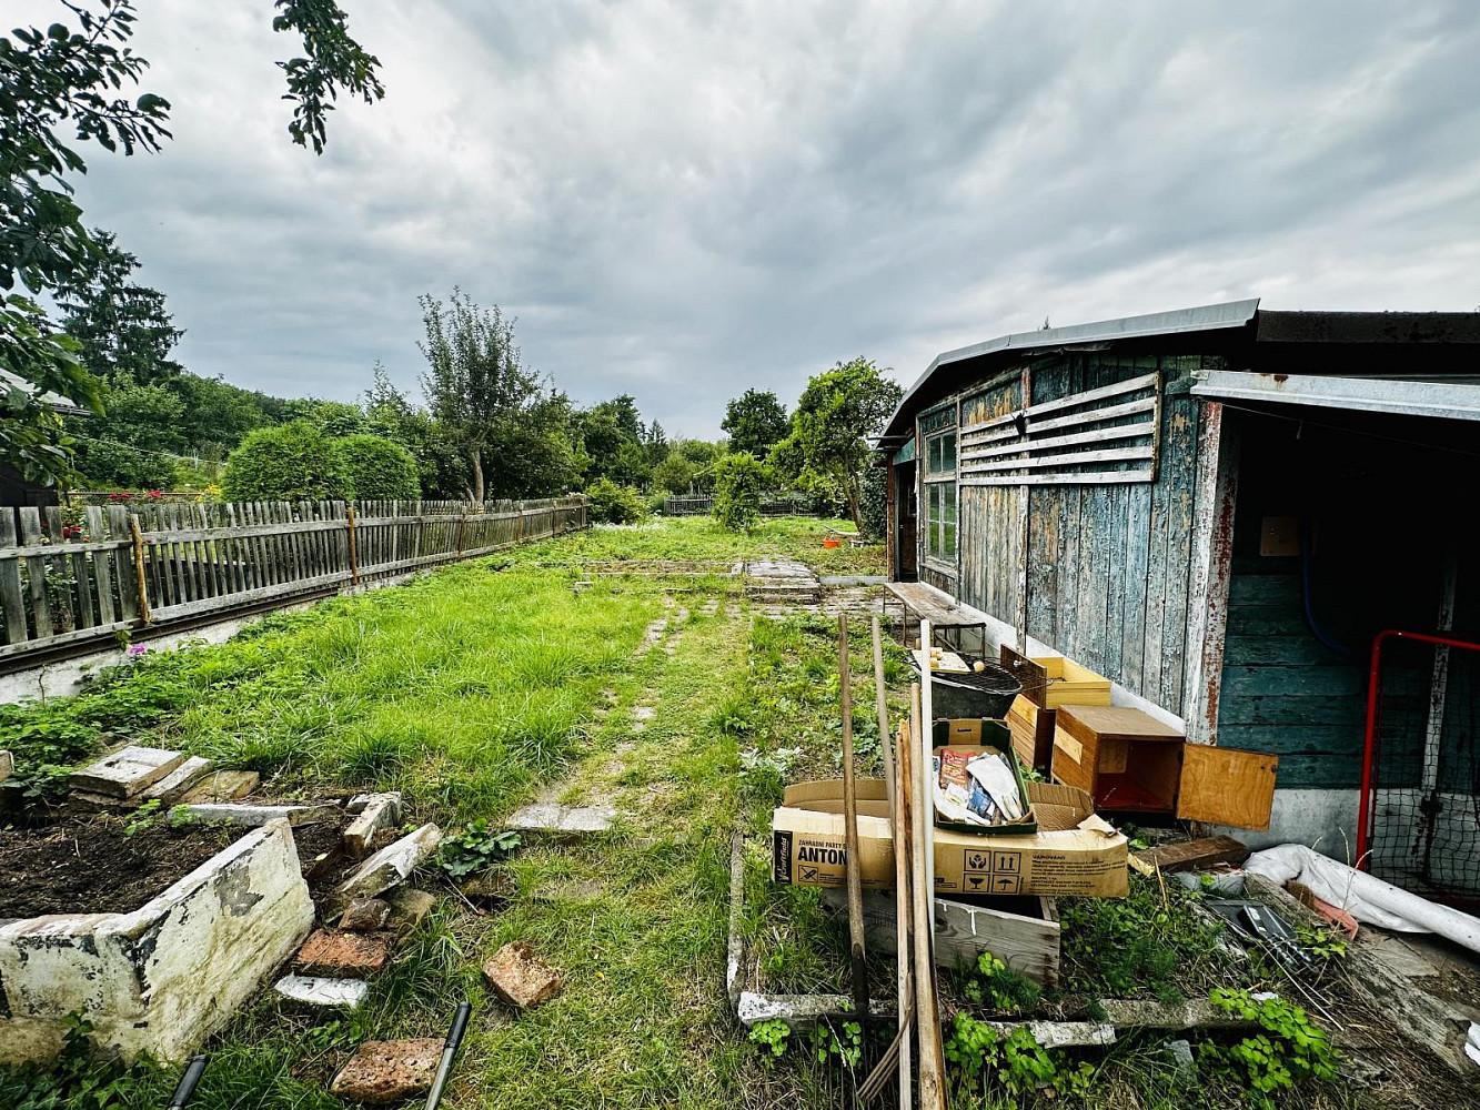
<instances>
[{"instance_id":1,"label":"weathered wooden shed with peeling blue-green paint and low curved roof","mask_svg":"<svg viewBox=\"0 0 1480 1110\"><path fill-rule=\"evenodd\" d=\"M935 358L878 440L891 577L1190 743L1277 753L1267 839L1348 855L1373 638L1480 636L1477 420L1480 314L1237 300L1002 336ZM1473 802L1465 660L1421 727Z\"/></svg>"}]
</instances>

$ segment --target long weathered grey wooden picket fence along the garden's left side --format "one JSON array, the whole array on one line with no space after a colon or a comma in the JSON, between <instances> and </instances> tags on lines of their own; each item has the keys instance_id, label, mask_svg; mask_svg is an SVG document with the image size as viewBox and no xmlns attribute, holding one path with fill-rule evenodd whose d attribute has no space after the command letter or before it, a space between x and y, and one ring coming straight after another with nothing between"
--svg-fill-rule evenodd
<instances>
[{"instance_id":1,"label":"long weathered grey wooden picket fence along the garden's left side","mask_svg":"<svg viewBox=\"0 0 1480 1110\"><path fill-rule=\"evenodd\" d=\"M586 527L586 499L0 508L0 663Z\"/></svg>"}]
</instances>

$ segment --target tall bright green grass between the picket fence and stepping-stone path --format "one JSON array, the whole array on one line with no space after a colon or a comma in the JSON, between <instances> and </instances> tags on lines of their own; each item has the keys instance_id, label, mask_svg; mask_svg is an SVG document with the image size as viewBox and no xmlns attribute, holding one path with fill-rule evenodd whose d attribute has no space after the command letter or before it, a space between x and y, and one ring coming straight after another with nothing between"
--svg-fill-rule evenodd
<instances>
[{"instance_id":1,"label":"tall bright green grass between the picket fence and stepping-stone path","mask_svg":"<svg viewBox=\"0 0 1480 1110\"><path fill-rule=\"evenodd\" d=\"M136 739L260 771L284 796L377 786L423 815L496 818L580 750L659 610L651 592L577 596L537 571L465 564L9 706L0 746L34 776Z\"/></svg>"}]
</instances>

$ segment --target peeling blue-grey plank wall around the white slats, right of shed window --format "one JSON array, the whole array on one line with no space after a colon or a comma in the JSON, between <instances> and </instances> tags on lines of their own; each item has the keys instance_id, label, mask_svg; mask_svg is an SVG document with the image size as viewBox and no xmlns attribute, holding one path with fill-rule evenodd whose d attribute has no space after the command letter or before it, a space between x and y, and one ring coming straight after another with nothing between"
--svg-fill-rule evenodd
<instances>
[{"instance_id":1,"label":"peeling blue-grey plank wall around the white slats, right of shed window","mask_svg":"<svg viewBox=\"0 0 1480 1110\"><path fill-rule=\"evenodd\" d=\"M1199 403L1180 383L1200 361L1114 351L1033 360L1029 404L1156 371L1163 391L1156 481L963 487L961 506L963 602L1014 626L1023 613L1030 636L1174 713L1183 710L1199 511ZM962 423L1020 407L1015 380L965 394Z\"/></svg>"}]
</instances>

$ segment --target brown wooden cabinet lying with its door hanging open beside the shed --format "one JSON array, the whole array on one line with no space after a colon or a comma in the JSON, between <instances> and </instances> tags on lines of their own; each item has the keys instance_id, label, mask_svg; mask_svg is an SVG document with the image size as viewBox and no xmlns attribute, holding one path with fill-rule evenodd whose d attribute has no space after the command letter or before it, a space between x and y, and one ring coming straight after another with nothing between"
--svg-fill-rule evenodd
<instances>
[{"instance_id":1,"label":"brown wooden cabinet lying with its door hanging open beside the shed","mask_svg":"<svg viewBox=\"0 0 1480 1110\"><path fill-rule=\"evenodd\" d=\"M1097 810L1267 829L1279 756L1188 744L1181 731L1126 706L1060 706L1052 774Z\"/></svg>"}]
</instances>

